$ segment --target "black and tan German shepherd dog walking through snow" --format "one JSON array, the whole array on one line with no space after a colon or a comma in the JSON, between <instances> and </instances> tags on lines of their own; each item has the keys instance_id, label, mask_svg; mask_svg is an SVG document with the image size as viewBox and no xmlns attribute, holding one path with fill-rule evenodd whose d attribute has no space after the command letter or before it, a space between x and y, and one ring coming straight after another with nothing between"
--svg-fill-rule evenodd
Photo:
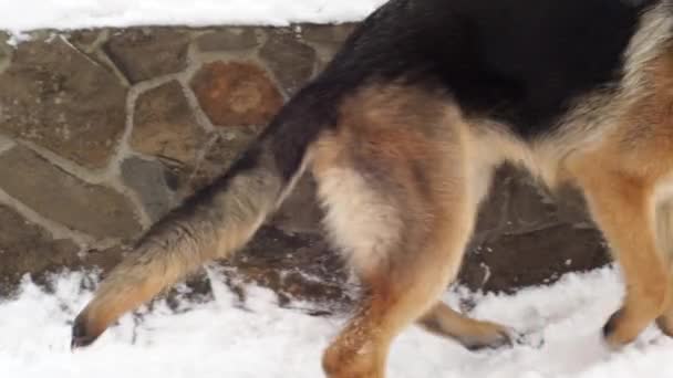
<instances>
[{"instance_id":1,"label":"black and tan German shepherd dog walking through snow","mask_svg":"<svg viewBox=\"0 0 673 378\"><path fill-rule=\"evenodd\" d=\"M495 167L583 193L627 284L607 344L673 335L673 0L391 0L237 162L153 225L76 317L73 347L204 262L230 256L304 171L366 294L324 353L331 378L384 377L418 322L508 343L438 297Z\"/></svg>"}]
</instances>

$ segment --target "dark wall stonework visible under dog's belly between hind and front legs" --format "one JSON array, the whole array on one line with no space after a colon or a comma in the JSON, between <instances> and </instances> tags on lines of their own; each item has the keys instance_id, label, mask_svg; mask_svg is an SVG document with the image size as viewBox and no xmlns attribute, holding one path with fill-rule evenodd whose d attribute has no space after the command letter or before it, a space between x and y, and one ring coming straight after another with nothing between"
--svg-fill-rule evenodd
<instances>
[{"instance_id":1,"label":"dark wall stonework visible under dog's belly between hind and front legs","mask_svg":"<svg viewBox=\"0 0 673 378\"><path fill-rule=\"evenodd\" d=\"M467 250L460 281L490 292L552 283L610 261L576 190L552 197L511 166L498 169Z\"/></svg>"}]
</instances>

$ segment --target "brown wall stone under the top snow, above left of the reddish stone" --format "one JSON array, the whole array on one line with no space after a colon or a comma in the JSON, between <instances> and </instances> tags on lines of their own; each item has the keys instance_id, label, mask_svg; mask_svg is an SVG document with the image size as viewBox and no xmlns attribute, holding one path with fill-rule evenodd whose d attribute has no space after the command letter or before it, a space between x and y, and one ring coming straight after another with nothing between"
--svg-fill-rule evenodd
<instances>
[{"instance_id":1,"label":"brown wall stone under the top snow, above left of the reddish stone","mask_svg":"<svg viewBox=\"0 0 673 378\"><path fill-rule=\"evenodd\" d=\"M187 67L189 35L167 28L126 29L113 33L104 51L131 83Z\"/></svg>"}]
</instances>

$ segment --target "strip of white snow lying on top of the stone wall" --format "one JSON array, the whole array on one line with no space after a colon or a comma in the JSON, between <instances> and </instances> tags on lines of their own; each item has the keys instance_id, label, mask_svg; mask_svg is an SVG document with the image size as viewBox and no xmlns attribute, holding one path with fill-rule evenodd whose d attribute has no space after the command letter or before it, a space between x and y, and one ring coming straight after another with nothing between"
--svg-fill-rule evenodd
<instances>
[{"instance_id":1,"label":"strip of white snow lying on top of the stone wall","mask_svg":"<svg viewBox=\"0 0 673 378\"><path fill-rule=\"evenodd\" d=\"M384 0L0 0L0 29L359 21Z\"/></svg>"}]
</instances>

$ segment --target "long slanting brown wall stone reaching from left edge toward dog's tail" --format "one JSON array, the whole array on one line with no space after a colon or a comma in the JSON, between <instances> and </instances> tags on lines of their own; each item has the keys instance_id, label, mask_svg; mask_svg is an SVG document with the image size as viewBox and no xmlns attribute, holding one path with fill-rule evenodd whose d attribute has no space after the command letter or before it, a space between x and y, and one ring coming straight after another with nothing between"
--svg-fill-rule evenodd
<instances>
[{"instance_id":1,"label":"long slanting brown wall stone reaching from left edge toward dog's tail","mask_svg":"<svg viewBox=\"0 0 673 378\"><path fill-rule=\"evenodd\" d=\"M43 217L95 238L133 238L141 231L118 192L86 183L17 146L0 155L0 188Z\"/></svg>"}]
</instances>

